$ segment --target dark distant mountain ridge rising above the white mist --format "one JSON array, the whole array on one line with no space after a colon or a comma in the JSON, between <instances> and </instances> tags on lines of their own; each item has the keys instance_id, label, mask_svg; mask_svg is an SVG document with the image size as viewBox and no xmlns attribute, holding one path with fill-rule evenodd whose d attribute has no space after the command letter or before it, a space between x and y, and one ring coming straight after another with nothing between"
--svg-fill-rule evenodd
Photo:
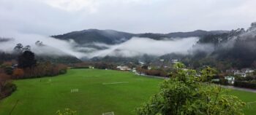
<instances>
[{"instance_id":1,"label":"dark distant mountain ridge rising above the white mist","mask_svg":"<svg viewBox=\"0 0 256 115\"><path fill-rule=\"evenodd\" d=\"M69 40L72 39L78 44L89 44L92 42L99 42L105 44L119 44L132 37L143 37L155 40L171 39L171 38L187 38L192 36L206 36L210 34L227 33L229 31L189 31L189 32L174 32L174 33L127 33L115 30L99 30L87 29L83 31L72 31L60 35L52 36L55 39Z\"/></svg>"}]
</instances>

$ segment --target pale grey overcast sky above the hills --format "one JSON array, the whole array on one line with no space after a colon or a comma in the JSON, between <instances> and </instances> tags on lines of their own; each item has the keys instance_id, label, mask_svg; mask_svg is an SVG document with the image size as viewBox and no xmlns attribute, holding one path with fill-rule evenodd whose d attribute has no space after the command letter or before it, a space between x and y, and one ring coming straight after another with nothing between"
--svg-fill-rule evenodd
<instances>
[{"instance_id":1,"label":"pale grey overcast sky above the hills","mask_svg":"<svg viewBox=\"0 0 256 115\"><path fill-rule=\"evenodd\" d=\"M0 31L48 36L88 28L231 30L256 21L255 5L255 0L0 0Z\"/></svg>"}]
</instances>

